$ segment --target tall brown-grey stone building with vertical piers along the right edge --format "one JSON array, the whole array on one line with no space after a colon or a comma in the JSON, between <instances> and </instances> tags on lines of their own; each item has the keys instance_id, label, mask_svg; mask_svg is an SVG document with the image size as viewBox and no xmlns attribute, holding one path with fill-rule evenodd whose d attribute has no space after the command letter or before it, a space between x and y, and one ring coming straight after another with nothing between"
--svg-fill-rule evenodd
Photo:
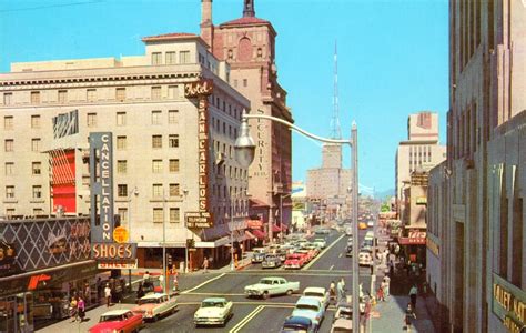
<instances>
[{"instance_id":1,"label":"tall brown-grey stone building with vertical piers along the right edge","mask_svg":"<svg viewBox=\"0 0 526 333\"><path fill-rule=\"evenodd\" d=\"M525 30L522 1L451 1L447 161L429 201L444 331L526 324Z\"/></svg>"}]
</instances>

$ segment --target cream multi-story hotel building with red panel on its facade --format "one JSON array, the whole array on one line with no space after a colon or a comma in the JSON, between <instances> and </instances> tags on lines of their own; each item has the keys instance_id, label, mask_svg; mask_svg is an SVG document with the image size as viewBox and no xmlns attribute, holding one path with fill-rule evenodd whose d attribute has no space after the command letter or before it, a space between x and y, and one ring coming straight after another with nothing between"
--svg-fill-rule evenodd
<instances>
[{"instance_id":1,"label":"cream multi-story hotel building with red panel on its facade","mask_svg":"<svg viewBox=\"0 0 526 333\"><path fill-rule=\"evenodd\" d=\"M221 262L231 229L244 239L249 174L233 145L250 101L199 36L143 41L144 56L13 63L0 74L0 211L88 215L88 137L111 132L114 211L139 245L140 264L159 266L163 224L178 261L193 239L191 264L203 255ZM198 101L189 88L202 79L213 93ZM200 211L203 196L212 226L188 228L185 216Z\"/></svg>"}]
</instances>

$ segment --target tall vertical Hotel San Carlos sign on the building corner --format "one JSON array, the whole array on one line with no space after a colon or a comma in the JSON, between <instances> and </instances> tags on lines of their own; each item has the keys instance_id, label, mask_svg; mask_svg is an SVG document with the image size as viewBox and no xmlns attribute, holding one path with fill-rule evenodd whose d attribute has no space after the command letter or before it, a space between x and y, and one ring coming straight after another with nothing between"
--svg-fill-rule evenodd
<instances>
[{"instance_id":1,"label":"tall vertical Hotel San Carlos sign on the building corner","mask_svg":"<svg viewBox=\"0 0 526 333\"><path fill-rule=\"evenodd\" d=\"M184 85L185 98L198 98L198 151L199 151L199 211L188 212L188 228L211 228L213 216L209 211L209 95L213 92L213 81L201 79Z\"/></svg>"}]
</instances>

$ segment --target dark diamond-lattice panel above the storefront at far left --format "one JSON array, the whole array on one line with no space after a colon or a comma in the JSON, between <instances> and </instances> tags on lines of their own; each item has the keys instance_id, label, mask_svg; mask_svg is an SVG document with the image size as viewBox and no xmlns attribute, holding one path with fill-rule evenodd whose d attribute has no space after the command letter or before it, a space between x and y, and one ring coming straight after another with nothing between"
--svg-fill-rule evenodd
<instances>
[{"instance_id":1,"label":"dark diamond-lattice panel above the storefront at far left","mask_svg":"<svg viewBox=\"0 0 526 333\"><path fill-rule=\"evenodd\" d=\"M90 225L89 218L0 221L0 276L89 259Z\"/></svg>"}]
</instances>

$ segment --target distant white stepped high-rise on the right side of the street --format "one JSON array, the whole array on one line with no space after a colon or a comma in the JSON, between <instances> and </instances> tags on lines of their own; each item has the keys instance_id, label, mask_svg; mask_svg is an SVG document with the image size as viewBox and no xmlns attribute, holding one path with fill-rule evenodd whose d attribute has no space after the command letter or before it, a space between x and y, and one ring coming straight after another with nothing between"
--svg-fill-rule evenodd
<instances>
[{"instance_id":1,"label":"distant white stepped high-rise on the right side of the street","mask_svg":"<svg viewBox=\"0 0 526 333\"><path fill-rule=\"evenodd\" d=\"M404 182L422 168L429 170L446 158L446 148L438 142L438 114L418 112L407 119L407 141L401 141L395 158L396 198L402 200Z\"/></svg>"}]
</instances>

